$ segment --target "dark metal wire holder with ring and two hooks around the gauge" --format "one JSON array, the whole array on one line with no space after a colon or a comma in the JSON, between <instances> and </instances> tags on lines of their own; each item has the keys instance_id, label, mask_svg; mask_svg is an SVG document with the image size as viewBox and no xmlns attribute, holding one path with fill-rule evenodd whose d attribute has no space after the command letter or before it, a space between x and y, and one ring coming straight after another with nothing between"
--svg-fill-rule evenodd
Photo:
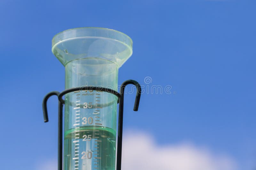
<instances>
[{"instance_id":1,"label":"dark metal wire holder with ring and two hooks around the gauge","mask_svg":"<svg viewBox=\"0 0 256 170\"><path fill-rule=\"evenodd\" d=\"M58 170L62 170L63 161L62 161L62 119L63 119L63 104L65 101L62 99L67 93L81 90L97 90L104 91L116 95L118 97L117 103L119 103L119 113L118 113L118 135L117 135L117 156L116 156L116 169L121 170L121 159L122 159L122 139L123 139L123 116L124 116L124 89L128 84L133 84L137 88L136 98L134 102L134 111L138 111L139 103L140 103L140 94L141 88L140 84L134 80L124 81L120 88L120 93L115 90L103 88L103 87L76 87L71 89L66 89L62 92L52 91L48 93L43 99L43 114L44 114L44 122L48 122L48 112L47 112L47 100L49 97L56 95L59 99L59 114L58 114Z\"/></svg>"}]
</instances>

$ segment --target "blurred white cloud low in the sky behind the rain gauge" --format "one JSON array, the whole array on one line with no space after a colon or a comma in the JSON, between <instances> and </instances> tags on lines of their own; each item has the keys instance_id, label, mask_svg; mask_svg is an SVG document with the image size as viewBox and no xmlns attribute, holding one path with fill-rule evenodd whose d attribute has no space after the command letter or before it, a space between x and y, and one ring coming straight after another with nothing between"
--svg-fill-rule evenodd
<instances>
[{"instance_id":1,"label":"blurred white cloud low in the sky behind the rain gauge","mask_svg":"<svg viewBox=\"0 0 256 170\"><path fill-rule=\"evenodd\" d=\"M228 156L191 144L159 146L144 132L124 132L122 170L236 170ZM57 161L38 164L36 170L56 170Z\"/></svg>"}]
</instances>

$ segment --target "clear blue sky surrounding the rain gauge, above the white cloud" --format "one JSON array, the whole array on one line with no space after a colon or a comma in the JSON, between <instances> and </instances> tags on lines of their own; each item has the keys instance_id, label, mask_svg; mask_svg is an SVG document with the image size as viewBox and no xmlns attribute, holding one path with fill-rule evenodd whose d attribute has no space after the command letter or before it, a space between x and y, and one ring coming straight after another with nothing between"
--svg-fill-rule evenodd
<instances>
[{"instance_id":1,"label":"clear blue sky surrounding the rain gauge, above the white cloud","mask_svg":"<svg viewBox=\"0 0 256 170\"><path fill-rule=\"evenodd\" d=\"M156 147L189 143L228 155L239 170L256 167L255 1L0 4L1 169L38 169L56 158L57 98L48 102L47 124L41 106L46 93L64 89L51 39L86 26L132 38L133 55L119 69L119 84L146 85L150 76L150 85L176 92L143 94L138 112L132 111L135 94L125 96L125 131L149 134Z\"/></svg>"}]
</instances>

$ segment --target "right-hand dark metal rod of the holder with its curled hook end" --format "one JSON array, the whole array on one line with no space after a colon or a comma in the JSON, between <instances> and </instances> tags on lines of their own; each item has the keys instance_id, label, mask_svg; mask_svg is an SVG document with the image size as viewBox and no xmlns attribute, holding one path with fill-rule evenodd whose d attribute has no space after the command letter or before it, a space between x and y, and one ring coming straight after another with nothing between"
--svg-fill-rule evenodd
<instances>
[{"instance_id":1,"label":"right-hand dark metal rod of the holder with its curled hook end","mask_svg":"<svg viewBox=\"0 0 256 170\"><path fill-rule=\"evenodd\" d=\"M122 161L122 140L123 140L123 117L124 117L124 89L128 84L133 84L137 88L136 98L134 102L134 111L138 111L140 104L141 87L140 84L135 80L124 81L121 85L119 98L119 114L118 114L118 136L117 136L117 156L116 156L116 169L121 170Z\"/></svg>"}]
</instances>

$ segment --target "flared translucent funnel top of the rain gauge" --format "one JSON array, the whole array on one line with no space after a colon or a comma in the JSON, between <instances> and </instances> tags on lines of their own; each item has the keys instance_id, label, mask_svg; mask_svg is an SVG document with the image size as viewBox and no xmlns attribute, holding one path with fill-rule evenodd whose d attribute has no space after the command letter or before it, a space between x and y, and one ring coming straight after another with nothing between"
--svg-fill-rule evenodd
<instances>
[{"instance_id":1,"label":"flared translucent funnel top of the rain gauge","mask_svg":"<svg viewBox=\"0 0 256 170\"><path fill-rule=\"evenodd\" d=\"M69 61L95 58L112 61L121 67L132 55L132 39L107 28L74 28L53 37L52 53L64 66Z\"/></svg>"}]
</instances>

